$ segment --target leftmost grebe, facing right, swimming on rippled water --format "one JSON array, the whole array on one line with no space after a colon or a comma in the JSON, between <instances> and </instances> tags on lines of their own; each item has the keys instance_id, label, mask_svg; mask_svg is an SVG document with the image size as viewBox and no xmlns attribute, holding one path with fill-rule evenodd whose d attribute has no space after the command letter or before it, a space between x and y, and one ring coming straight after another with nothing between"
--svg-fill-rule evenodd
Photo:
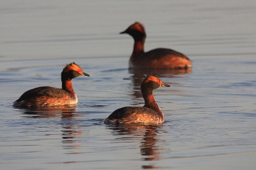
<instances>
[{"instance_id":1,"label":"leftmost grebe, facing right, swimming on rippled water","mask_svg":"<svg viewBox=\"0 0 256 170\"><path fill-rule=\"evenodd\" d=\"M70 63L61 72L62 89L49 86L30 89L13 102L13 107L52 107L77 104L77 95L72 87L72 79L84 73L76 63Z\"/></svg>"}]
</instances>

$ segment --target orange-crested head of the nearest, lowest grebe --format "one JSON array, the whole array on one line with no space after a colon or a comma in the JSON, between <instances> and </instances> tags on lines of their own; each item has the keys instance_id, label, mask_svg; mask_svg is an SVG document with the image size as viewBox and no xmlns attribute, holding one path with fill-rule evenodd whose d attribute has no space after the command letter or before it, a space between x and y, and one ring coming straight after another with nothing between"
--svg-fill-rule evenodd
<instances>
[{"instance_id":1,"label":"orange-crested head of the nearest, lowest grebe","mask_svg":"<svg viewBox=\"0 0 256 170\"><path fill-rule=\"evenodd\" d=\"M160 87L171 87L156 77L156 75L148 74L148 76L141 83L141 91L152 91Z\"/></svg>"}]
</instances>

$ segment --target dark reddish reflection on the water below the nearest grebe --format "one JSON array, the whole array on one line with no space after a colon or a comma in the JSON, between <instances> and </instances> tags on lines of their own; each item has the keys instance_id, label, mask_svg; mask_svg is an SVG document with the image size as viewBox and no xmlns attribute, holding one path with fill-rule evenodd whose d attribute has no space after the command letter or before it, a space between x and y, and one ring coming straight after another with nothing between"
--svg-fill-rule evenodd
<instances>
[{"instance_id":1,"label":"dark reddish reflection on the water below the nearest grebe","mask_svg":"<svg viewBox=\"0 0 256 170\"><path fill-rule=\"evenodd\" d=\"M113 135L118 135L116 140L141 139L140 154L143 161L159 161L161 160L161 150L157 137L161 125L108 125L113 130ZM120 137L122 136L122 137ZM160 169L155 165L156 162L150 162L149 165L141 166L142 169Z\"/></svg>"}]
</instances>

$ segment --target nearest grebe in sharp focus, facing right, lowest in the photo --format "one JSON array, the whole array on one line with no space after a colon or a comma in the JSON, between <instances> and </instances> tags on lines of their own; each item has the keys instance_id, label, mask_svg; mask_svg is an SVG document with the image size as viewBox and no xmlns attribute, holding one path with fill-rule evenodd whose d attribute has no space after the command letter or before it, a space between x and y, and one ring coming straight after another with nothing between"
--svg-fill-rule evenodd
<instances>
[{"instance_id":1,"label":"nearest grebe in sharp focus, facing right, lowest in the photo","mask_svg":"<svg viewBox=\"0 0 256 170\"><path fill-rule=\"evenodd\" d=\"M143 107L122 107L112 112L105 123L129 124L129 123L163 123L164 114L156 104L153 90L160 87L170 87L155 75L148 75L141 83L141 93L145 100Z\"/></svg>"}]
</instances>

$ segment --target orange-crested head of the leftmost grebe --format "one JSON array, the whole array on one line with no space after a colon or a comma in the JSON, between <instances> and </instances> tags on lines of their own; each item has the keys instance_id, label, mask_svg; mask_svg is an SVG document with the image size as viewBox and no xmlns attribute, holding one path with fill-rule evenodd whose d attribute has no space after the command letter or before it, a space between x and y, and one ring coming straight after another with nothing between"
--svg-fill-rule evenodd
<instances>
[{"instance_id":1,"label":"orange-crested head of the leftmost grebe","mask_svg":"<svg viewBox=\"0 0 256 170\"><path fill-rule=\"evenodd\" d=\"M82 68L78 66L76 63L70 63L65 68L63 68L63 71L61 72L61 80L71 80L74 79L80 75L88 76L88 73L84 73Z\"/></svg>"}]
</instances>

